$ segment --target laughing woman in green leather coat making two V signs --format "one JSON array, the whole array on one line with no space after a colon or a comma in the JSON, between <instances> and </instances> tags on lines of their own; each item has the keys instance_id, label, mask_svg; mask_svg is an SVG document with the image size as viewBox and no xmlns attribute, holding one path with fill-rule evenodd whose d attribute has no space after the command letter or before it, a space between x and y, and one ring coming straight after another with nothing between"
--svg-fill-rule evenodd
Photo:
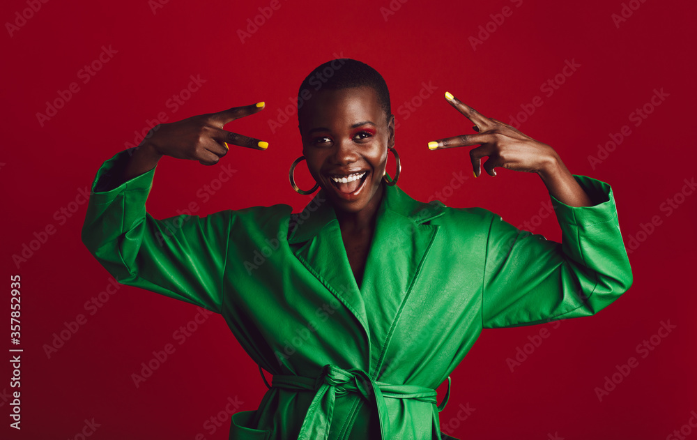
<instances>
[{"instance_id":1,"label":"laughing woman in green leather coat making two V signs","mask_svg":"<svg viewBox=\"0 0 697 440\"><path fill-rule=\"evenodd\" d=\"M311 88L321 73L327 82ZM448 374L482 328L592 315L631 285L610 186L573 176L550 146L450 93L477 133L429 143L481 144L470 151L475 176L484 156L491 176L495 167L536 172L562 244L394 185L389 93L364 63L318 66L298 95L307 98L298 101L302 153L312 191L321 188L302 212L277 204L155 220L145 210L163 155L214 165L229 144L266 149L224 130L259 103L162 124L114 155L95 177L83 228L119 282L220 312L273 374L259 409L233 415L231 439L446 438L438 412L447 395L438 404L435 388L447 378L450 393Z\"/></svg>"}]
</instances>

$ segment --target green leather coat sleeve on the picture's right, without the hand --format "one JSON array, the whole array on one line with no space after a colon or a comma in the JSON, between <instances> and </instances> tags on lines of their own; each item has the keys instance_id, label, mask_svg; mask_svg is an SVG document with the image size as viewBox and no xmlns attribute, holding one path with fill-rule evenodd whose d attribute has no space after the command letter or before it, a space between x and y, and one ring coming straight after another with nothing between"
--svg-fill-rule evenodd
<instances>
[{"instance_id":1,"label":"green leather coat sleeve on the picture's right, without the hand","mask_svg":"<svg viewBox=\"0 0 697 440\"><path fill-rule=\"evenodd\" d=\"M562 243L491 215L482 292L484 328L589 316L631 286L612 188L590 177L574 178L596 204L572 207L551 197Z\"/></svg>"}]
</instances>

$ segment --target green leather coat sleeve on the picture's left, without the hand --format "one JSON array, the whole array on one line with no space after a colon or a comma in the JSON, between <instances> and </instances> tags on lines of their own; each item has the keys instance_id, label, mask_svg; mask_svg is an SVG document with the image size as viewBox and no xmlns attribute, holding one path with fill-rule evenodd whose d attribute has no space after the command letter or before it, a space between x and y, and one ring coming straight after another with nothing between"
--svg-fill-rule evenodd
<instances>
[{"instance_id":1,"label":"green leather coat sleeve on the picture's left, without the hand","mask_svg":"<svg viewBox=\"0 0 697 440\"><path fill-rule=\"evenodd\" d=\"M156 167L119 182L128 153L117 153L98 170L82 242L121 284L220 313L231 211L155 220L145 203Z\"/></svg>"}]
</instances>

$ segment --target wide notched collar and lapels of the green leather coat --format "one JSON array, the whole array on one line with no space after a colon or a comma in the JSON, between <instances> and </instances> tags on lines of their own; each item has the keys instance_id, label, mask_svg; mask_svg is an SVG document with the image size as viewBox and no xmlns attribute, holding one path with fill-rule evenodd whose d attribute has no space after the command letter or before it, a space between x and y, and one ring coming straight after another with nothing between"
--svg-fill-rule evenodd
<instances>
[{"instance_id":1,"label":"wide notched collar and lapels of the green leather coat","mask_svg":"<svg viewBox=\"0 0 697 440\"><path fill-rule=\"evenodd\" d=\"M372 357L379 356L381 350L371 347L380 347L388 338L436 237L438 226L428 222L444 212L440 202L418 202L397 185L385 185L360 289L325 192L320 190L300 213L291 215L288 242L293 254L362 326L367 356L366 365L359 367L371 374L376 374L383 362Z\"/></svg>"}]
</instances>

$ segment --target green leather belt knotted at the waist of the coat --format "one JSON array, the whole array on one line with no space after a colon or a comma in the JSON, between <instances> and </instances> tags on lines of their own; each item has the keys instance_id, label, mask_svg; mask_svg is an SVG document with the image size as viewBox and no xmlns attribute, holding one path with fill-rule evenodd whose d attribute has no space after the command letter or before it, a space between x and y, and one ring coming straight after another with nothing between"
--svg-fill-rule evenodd
<instances>
[{"instance_id":1,"label":"green leather belt knotted at the waist of the coat","mask_svg":"<svg viewBox=\"0 0 697 440\"><path fill-rule=\"evenodd\" d=\"M294 376L291 374L274 374L271 386L289 390L316 390L312 403L302 421L298 440L327 439L332 425L336 397L346 393L361 393L367 400L372 400L378 410L380 431L383 439L388 439L390 418L388 417L385 397L392 399L415 399L422 402L436 403L436 390L418 385L393 385L375 381L360 368L344 370L336 365L324 365L316 378ZM447 393L438 405L438 412L445 409L450 397L450 376L447 377Z\"/></svg>"}]
</instances>

